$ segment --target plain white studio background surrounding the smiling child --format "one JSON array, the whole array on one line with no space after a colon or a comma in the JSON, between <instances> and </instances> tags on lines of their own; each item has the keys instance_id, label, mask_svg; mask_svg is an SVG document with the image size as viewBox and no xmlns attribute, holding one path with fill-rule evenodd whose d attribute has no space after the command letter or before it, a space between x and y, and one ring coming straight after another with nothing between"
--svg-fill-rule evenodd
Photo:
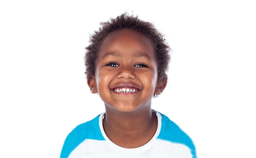
<instances>
[{"instance_id":1,"label":"plain white studio background surrounding the smiling child","mask_svg":"<svg viewBox=\"0 0 256 158\"><path fill-rule=\"evenodd\" d=\"M0 157L59 157L67 134L104 111L83 65L99 22L134 11L174 50L153 109L198 158L255 158L256 5L249 0L2 0Z\"/></svg>"}]
</instances>

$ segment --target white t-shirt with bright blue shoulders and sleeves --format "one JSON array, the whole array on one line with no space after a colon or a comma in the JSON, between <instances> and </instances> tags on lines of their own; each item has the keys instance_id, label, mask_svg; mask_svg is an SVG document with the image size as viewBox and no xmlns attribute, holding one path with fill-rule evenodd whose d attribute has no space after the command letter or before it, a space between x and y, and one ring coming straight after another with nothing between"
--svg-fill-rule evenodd
<instances>
[{"instance_id":1,"label":"white t-shirt with bright blue shoulders and sleeves","mask_svg":"<svg viewBox=\"0 0 256 158\"><path fill-rule=\"evenodd\" d=\"M157 116L156 133L141 147L127 149L112 142L104 132L105 113L101 113L70 132L61 158L196 158L191 138L167 116L154 112Z\"/></svg>"}]
</instances>

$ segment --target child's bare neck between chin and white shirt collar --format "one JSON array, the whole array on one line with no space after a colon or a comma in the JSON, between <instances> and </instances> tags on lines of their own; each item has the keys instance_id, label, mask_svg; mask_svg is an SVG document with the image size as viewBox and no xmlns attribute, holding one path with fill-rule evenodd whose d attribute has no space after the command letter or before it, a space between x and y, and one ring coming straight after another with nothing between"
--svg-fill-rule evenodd
<instances>
[{"instance_id":1,"label":"child's bare neck between chin and white shirt collar","mask_svg":"<svg viewBox=\"0 0 256 158\"><path fill-rule=\"evenodd\" d=\"M106 108L103 128L115 144L135 148L145 145L157 129L157 117L151 107L143 111L121 112Z\"/></svg>"}]
</instances>

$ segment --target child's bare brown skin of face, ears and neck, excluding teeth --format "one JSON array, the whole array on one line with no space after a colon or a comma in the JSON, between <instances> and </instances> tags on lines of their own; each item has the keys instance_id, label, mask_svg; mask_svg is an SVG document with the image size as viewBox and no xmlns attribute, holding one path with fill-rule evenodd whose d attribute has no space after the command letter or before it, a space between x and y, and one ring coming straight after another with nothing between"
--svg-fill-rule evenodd
<instances>
[{"instance_id":1,"label":"child's bare brown skin of face, ears and neck, excluding teeth","mask_svg":"<svg viewBox=\"0 0 256 158\"><path fill-rule=\"evenodd\" d=\"M157 117L151 99L167 83L167 76L159 81L157 67L152 42L138 31L117 30L101 42L95 76L88 79L88 85L105 103L106 135L120 147L141 147L155 134ZM133 91L123 93L117 88Z\"/></svg>"}]
</instances>

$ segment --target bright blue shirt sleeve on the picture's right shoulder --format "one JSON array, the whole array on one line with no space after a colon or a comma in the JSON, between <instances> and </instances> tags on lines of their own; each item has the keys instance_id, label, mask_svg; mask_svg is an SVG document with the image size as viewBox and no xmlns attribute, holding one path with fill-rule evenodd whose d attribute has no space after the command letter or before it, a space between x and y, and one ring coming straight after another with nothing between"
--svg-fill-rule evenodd
<instances>
[{"instance_id":1,"label":"bright blue shirt sleeve on the picture's right shoulder","mask_svg":"<svg viewBox=\"0 0 256 158\"><path fill-rule=\"evenodd\" d=\"M193 154L195 158L195 145L191 138L167 116L162 113L160 114L162 115L162 125L157 139L186 145L187 147L189 147L189 149L191 150L191 154Z\"/></svg>"}]
</instances>

